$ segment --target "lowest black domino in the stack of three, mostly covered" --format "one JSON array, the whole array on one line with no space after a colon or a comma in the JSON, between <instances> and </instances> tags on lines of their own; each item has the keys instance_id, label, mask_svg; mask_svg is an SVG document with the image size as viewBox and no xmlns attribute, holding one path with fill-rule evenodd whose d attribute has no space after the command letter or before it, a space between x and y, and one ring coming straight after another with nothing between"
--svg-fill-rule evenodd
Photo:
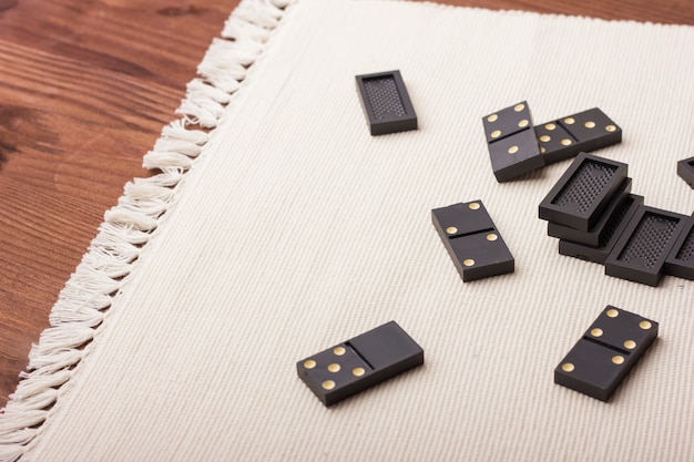
<instances>
[{"instance_id":1,"label":"lowest black domino in the stack of three, mostly covered","mask_svg":"<svg viewBox=\"0 0 694 462\"><path fill-rule=\"evenodd\" d=\"M614 245L622 236L622 233L626 229L631 217L642 205L643 196L630 194L610 216L596 246L560 239L559 253L569 257L603 265L614 248Z\"/></svg>"}]
</instances>

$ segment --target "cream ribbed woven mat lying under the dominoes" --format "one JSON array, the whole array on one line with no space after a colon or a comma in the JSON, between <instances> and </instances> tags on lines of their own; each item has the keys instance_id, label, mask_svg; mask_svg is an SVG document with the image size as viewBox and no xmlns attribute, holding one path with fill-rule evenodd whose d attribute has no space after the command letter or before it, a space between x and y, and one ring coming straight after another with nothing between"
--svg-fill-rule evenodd
<instances>
[{"instance_id":1,"label":"cream ribbed woven mat lying under the dominoes","mask_svg":"<svg viewBox=\"0 0 694 462\"><path fill-rule=\"evenodd\" d=\"M131 185L106 216L155 230L8 460L694 459L694 283L560 256L538 205L570 162L499 184L481 124L523 100L535 122L599 106L624 140L596 154L629 164L646 205L688 215L694 28L371 0L244 1L235 18L248 48L213 44L184 123L145 158L171 184ZM374 137L355 75L395 69L419 130ZM473 199L516 271L463 284L430 211ZM603 403L552 373L606 305L660 337ZM389 320L425 366L324 408L296 361Z\"/></svg>"}]
</instances>

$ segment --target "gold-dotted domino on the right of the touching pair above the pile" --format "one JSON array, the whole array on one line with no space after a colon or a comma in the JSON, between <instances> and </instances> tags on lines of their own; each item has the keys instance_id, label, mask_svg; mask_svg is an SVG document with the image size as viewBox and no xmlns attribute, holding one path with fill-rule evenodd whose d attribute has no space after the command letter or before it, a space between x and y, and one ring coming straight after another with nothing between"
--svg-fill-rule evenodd
<instances>
[{"instance_id":1,"label":"gold-dotted domino on the right of the touching pair above the pile","mask_svg":"<svg viewBox=\"0 0 694 462\"><path fill-rule=\"evenodd\" d=\"M622 141L622 129L598 107L535 126L545 165Z\"/></svg>"}]
</instances>

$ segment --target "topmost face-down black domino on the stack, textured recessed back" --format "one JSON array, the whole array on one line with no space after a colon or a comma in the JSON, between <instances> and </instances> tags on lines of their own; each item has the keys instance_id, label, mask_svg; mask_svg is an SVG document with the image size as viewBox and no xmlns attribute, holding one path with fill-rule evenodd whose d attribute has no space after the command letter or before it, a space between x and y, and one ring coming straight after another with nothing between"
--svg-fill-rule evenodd
<instances>
[{"instance_id":1,"label":"topmost face-down black domino on the stack, textured recessed back","mask_svg":"<svg viewBox=\"0 0 694 462\"><path fill-rule=\"evenodd\" d=\"M626 164L580 153L540 203L540 218L588 232L626 173Z\"/></svg>"}]
</instances>

